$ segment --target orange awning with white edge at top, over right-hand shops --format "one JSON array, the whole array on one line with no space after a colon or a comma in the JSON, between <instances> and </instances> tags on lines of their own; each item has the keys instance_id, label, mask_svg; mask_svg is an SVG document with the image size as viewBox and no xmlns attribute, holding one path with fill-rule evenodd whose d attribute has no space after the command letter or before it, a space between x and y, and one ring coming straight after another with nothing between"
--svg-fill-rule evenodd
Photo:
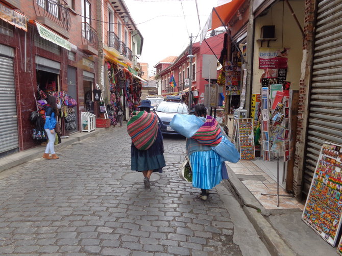
<instances>
[{"instance_id":1,"label":"orange awning with white edge at top, over right-hand shops","mask_svg":"<svg viewBox=\"0 0 342 256\"><path fill-rule=\"evenodd\" d=\"M245 0L232 0L227 4L212 8L209 18L201 31L200 42L202 43L208 31L227 25L236 11L242 6L243 2L245 2ZM220 18L223 23L221 22Z\"/></svg>"}]
</instances>

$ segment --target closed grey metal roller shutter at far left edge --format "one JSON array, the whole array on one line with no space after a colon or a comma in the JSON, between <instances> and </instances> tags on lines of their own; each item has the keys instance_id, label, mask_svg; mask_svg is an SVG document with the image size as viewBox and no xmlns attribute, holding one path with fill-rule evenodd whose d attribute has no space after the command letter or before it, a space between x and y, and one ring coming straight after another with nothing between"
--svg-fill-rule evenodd
<instances>
[{"instance_id":1,"label":"closed grey metal roller shutter at far left edge","mask_svg":"<svg viewBox=\"0 0 342 256\"><path fill-rule=\"evenodd\" d=\"M0 56L0 153L18 146L13 60Z\"/></svg>"}]
</instances>

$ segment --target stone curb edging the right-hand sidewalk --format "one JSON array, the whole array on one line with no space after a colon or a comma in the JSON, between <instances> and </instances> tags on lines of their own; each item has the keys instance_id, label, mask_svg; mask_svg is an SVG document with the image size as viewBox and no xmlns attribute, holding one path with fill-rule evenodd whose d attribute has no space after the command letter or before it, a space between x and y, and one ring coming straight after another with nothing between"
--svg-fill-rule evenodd
<instances>
[{"instance_id":1,"label":"stone curb edging the right-hand sidewalk","mask_svg":"<svg viewBox=\"0 0 342 256\"><path fill-rule=\"evenodd\" d=\"M273 226L263 217L263 215L270 215L270 211L265 210L264 207L256 200L253 194L246 188L239 180L236 174L226 164L229 180L225 184L231 189L248 219L253 224L257 234L264 242L271 255L295 256L297 255L285 241L278 235Z\"/></svg>"}]
</instances>

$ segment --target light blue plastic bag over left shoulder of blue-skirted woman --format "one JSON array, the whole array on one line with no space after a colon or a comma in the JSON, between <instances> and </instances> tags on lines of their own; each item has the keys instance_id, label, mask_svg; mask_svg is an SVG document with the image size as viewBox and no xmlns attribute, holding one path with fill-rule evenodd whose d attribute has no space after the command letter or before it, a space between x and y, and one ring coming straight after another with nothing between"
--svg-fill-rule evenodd
<instances>
[{"instance_id":1,"label":"light blue plastic bag over left shoulder of blue-skirted woman","mask_svg":"<svg viewBox=\"0 0 342 256\"><path fill-rule=\"evenodd\" d=\"M170 122L170 126L186 138L191 138L203 125L203 121L195 115L176 114Z\"/></svg>"}]
</instances>

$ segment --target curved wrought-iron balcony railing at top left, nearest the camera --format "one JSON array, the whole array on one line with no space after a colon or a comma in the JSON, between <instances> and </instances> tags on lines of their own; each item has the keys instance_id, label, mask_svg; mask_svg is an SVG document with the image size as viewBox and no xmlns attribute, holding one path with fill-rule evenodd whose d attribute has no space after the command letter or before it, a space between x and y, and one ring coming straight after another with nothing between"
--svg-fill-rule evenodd
<instances>
[{"instance_id":1,"label":"curved wrought-iron balcony railing at top left, nearest the camera","mask_svg":"<svg viewBox=\"0 0 342 256\"><path fill-rule=\"evenodd\" d=\"M63 0L33 0L37 17L45 17L53 21L57 27L70 30L71 18L68 5Z\"/></svg>"}]
</instances>

